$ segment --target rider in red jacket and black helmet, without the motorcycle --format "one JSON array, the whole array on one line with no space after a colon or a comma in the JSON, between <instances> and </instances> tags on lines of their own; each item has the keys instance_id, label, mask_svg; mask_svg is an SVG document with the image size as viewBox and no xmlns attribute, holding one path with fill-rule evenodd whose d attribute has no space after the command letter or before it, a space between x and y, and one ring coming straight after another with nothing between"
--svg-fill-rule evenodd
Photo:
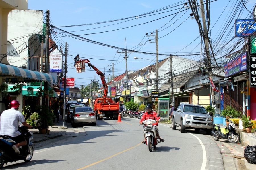
<instances>
[{"instance_id":1,"label":"rider in red jacket and black helmet, without the motorcycle","mask_svg":"<svg viewBox=\"0 0 256 170\"><path fill-rule=\"evenodd\" d=\"M152 106L151 105L146 105L145 107L145 113L141 116L141 121L140 121L140 124L142 124L142 122L144 120L148 120L148 119L153 119L153 120L156 120L156 123L155 124L152 124L152 125L155 125L155 131L156 131L156 136L158 137L158 139L161 141L161 142L164 142L164 139L161 139L160 136L159 136L159 133L158 133L158 122L160 122L160 117L157 117L157 114L156 112L152 111ZM142 141L142 143L146 143L146 137L144 135L144 138L145 140Z\"/></svg>"}]
</instances>

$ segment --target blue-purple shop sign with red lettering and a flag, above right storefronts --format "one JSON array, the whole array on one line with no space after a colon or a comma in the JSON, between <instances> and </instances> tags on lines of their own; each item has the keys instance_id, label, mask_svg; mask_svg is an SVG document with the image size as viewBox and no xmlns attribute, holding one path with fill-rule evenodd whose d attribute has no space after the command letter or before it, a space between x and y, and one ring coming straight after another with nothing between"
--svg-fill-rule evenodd
<instances>
[{"instance_id":1,"label":"blue-purple shop sign with red lettering and a flag, above right storefronts","mask_svg":"<svg viewBox=\"0 0 256 170\"><path fill-rule=\"evenodd\" d=\"M239 57L234 58L232 61L224 65L225 77L229 77L241 71L247 70L247 54L246 52Z\"/></svg>"}]
</instances>

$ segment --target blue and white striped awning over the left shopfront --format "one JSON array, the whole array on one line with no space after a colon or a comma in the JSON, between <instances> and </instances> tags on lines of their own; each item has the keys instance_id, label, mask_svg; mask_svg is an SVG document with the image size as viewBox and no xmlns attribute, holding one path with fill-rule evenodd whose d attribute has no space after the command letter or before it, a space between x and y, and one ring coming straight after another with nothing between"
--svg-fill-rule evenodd
<instances>
[{"instance_id":1,"label":"blue and white striped awning over the left shopfront","mask_svg":"<svg viewBox=\"0 0 256 170\"><path fill-rule=\"evenodd\" d=\"M38 71L26 70L20 67L12 66L12 65L0 64L0 75L6 76L6 78L9 78L10 82L36 81L36 82L55 83L54 77L50 74L42 73ZM18 78L18 80L15 78Z\"/></svg>"}]
</instances>

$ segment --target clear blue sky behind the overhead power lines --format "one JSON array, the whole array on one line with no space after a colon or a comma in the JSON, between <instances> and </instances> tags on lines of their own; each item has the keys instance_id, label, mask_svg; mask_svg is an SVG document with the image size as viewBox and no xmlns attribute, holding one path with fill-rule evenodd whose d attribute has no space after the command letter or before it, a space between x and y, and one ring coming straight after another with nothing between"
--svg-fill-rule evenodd
<instances>
[{"instance_id":1,"label":"clear blue sky behind the overhead power lines","mask_svg":"<svg viewBox=\"0 0 256 170\"><path fill-rule=\"evenodd\" d=\"M247 9L252 11L255 2L253 0L243 1ZM151 32L155 35L156 29L158 30L158 50L160 54L164 54L159 55L159 61L168 57L170 54L199 60L199 55L187 56L187 54L200 53L201 39L199 37L199 29L196 20L191 19L191 16L189 16L191 10L188 9L186 11L187 8L183 7L184 5L180 5L185 2L186 1L181 0L44 0L39 3L39 1L36 0L28 0L28 9L43 10L44 12L50 10L51 25L72 32L75 35L81 35L81 37L92 41L118 47L118 49L115 49L81 41L72 37L63 36L60 30L53 30L56 32L56 34L53 35L53 40L58 46L65 46L65 42L69 44L67 77L74 77L75 84L77 84L76 87L80 87L80 85L90 84L91 80L94 80L94 76L96 76L96 80L100 82L100 77L93 69L89 69L88 67L86 67L86 72L77 73L73 68L74 56L79 54L81 59L89 59L90 63L100 69L105 75L112 75L112 63L114 63L114 75L118 76L125 72L125 60L123 59L124 53L117 53L117 51L121 52L120 48L135 49L136 51L140 51L140 53L127 53L129 56L127 63L128 70L136 71L154 63L153 61L145 59L156 61L156 55L154 54L156 53L156 43L149 43L148 41L152 39L152 42L154 42L154 38L145 36L146 33L150 35ZM218 36L220 29L225 24L226 16L234 11L234 9L231 8L232 3L228 2L228 0L218 0L212 2L210 5L212 38ZM187 6L189 6L189 4ZM164 7L170 8L168 10L139 16ZM223 10L224 13L220 15ZM163 13L159 14L161 12ZM248 15L249 12L246 10L242 11L241 14L237 14L239 19L246 19ZM135 16L139 17L135 18ZM92 24L128 17L131 18L104 24ZM230 31L234 31L234 22L235 21L233 21L228 28ZM87 25L63 27L83 24ZM142 54L142 52L153 54ZM145 59L134 60L134 56Z\"/></svg>"}]
</instances>

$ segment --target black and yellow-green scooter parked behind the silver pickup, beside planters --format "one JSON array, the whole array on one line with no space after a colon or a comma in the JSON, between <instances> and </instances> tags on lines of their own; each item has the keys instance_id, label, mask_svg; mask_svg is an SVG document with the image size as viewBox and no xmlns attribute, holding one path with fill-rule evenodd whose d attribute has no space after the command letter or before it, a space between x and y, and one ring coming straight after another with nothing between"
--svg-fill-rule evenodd
<instances>
[{"instance_id":1,"label":"black and yellow-green scooter parked behind the silver pickup, beside planters","mask_svg":"<svg viewBox=\"0 0 256 170\"><path fill-rule=\"evenodd\" d=\"M228 123L229 122L229 123ZM218 141L219 139L228 139L230 143L237 143L239 140L239 135L236 133L235 124L229 117L226 117L226 124L228 126L223 126L219 124L214 124L212 129L213 139Z\"/></svg>"}]
</instances>

